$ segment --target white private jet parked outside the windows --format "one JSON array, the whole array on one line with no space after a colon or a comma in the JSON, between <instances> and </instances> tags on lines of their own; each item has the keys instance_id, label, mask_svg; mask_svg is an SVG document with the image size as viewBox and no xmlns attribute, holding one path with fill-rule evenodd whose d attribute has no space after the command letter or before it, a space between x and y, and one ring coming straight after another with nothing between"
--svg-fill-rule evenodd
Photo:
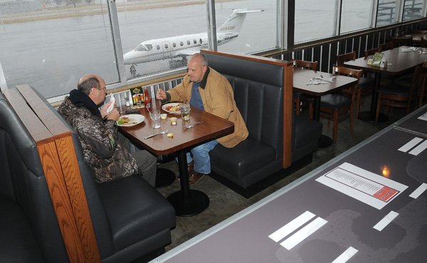
<instances>
[{"instance_id":1,"label":"white private jet parked outside the windows","mask_svg":"<svg viewBox=\"0 0 427 263\"><path fill-rule=\"evenodd\" d=\"M260 12L263 10L235 9L231 16L223 23L216 32L217 45L222 45L237 38L241 30L246 14ZM134 49L123 55L126 65L132 65L130 72L135 75L135 65L154 60L165 60L169 58L182 58L199 52L201 48L208 47L207 33L195 33L190 35L173 36L169 38L158 38L139 43Z\"/></svg>"}]
</instances>

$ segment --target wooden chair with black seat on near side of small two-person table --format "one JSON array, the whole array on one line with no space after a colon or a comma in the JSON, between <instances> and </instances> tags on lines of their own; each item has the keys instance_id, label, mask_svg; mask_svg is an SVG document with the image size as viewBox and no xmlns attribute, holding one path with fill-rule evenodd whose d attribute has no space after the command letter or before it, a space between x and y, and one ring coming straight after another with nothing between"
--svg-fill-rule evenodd
<instances>
[{"instance_id":1,"label":"wooden chair with black seat on near side of small two-person table","mask_svg":"<svg viewBox=\"0 0 427 263\"><path fill-rule=\"evenodd\" d=\"M363 70L334 65L332 74L355 77L357 78L357 83L342 92L325 95L320 98L320 117L328 120L328 126L332 120L332 141L334 143L337 141L338 123L347 119L347 117L350 122L350 134L353 136L353 103L362 73Z\"/></svg>"}]
</instances>

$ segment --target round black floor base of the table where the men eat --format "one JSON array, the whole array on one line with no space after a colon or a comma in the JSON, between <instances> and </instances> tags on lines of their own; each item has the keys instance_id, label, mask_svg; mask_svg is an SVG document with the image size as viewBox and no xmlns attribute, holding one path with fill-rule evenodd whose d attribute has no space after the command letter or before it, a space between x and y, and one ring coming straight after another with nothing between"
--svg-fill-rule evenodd
<instances>
[{"instance_id":1,"label":"round black floor base of the table where the men eat","mask_svg":"<svg viewBox=\"0 0 427 263\"><path fill-rule=\"evenodd\" d=\"M189 190L188 198L179 190L167 197L167 200L175 208L176 216L191 216L203 212L209 206L209 197L199 190Z\"/></svg>"}]
</instances>

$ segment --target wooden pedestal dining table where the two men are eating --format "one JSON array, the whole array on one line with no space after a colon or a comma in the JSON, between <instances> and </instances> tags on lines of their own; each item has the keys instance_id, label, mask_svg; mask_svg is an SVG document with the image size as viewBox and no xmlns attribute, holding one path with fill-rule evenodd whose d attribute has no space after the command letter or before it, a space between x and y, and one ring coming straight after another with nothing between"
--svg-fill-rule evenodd
<instances>
[{"instance_id":1,"label":"wooden pedestal dining table where the two men are eating","mask_svg":"<svg viewBox=\"0 0 427 263\"><path fill-rule=\"evenodd\" d=\"M119 131L134 144L142 146L155 156L176 154L178 157L181 190L169 195L167 200L174 206L176 216L199 214L209 207L209 197L201 190L190 189L186 152L192 146L233 133L234 124L195 107L191 107L188 121L181 119L181 114L165 111L164 107L160 110L162 113L167 114L166 119L161 119L161 128L152 128L152 119L149 112L146 109L140 109L139 114L144 116L144 121L131 127L119 127ZM176 118L175 124L173 124L171 118ZM186 128L196 123L200 124L189 129ZM164 131L167 132L145 139L147 136Z\"/></svg>"}]
</instances>

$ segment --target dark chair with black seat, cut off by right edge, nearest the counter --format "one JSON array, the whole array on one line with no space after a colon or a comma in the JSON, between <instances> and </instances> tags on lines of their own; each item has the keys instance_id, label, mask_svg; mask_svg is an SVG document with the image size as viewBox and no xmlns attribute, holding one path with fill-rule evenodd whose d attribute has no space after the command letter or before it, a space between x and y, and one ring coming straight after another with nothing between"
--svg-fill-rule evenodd
<instances>
[{"instance_id":1,"label":"dark chair with black seat, cut off by right edge, nearest the counter","mask_svg":"<svg viewBox=\"0 0 427 263\"><path fill-rule=\"evenodd\" d=\"M427 68L417 66L411 80L411 85L399 85L393 83L378 90L378 102L376 103L375 122L378 122L381 106L386 106L386 112L389 107L406 109L406 114L411 107L416 109L423 104L424 92L426 90Z\"/></svg>"}]
</instances>

